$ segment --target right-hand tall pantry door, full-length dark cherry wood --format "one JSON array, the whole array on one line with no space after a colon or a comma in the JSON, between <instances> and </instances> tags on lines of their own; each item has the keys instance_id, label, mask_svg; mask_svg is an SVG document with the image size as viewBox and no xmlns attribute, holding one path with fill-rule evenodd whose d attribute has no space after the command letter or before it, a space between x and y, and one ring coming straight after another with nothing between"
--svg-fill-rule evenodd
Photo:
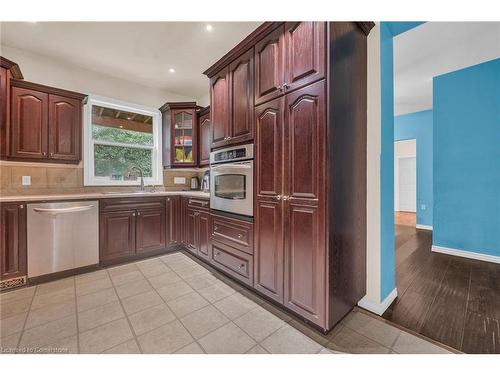
<instances>
[{"instance_id":1,"label":"right-hand tall pantry door, full-length dark cherry wood","mask_svg":"<svg viewBox=\"0 0 500 375\"><path fill-rule=\"evenodd\" d=\"M286 96L285 296L291 310L325 326L325 83Z\"/></svg>"}]
</instances>

